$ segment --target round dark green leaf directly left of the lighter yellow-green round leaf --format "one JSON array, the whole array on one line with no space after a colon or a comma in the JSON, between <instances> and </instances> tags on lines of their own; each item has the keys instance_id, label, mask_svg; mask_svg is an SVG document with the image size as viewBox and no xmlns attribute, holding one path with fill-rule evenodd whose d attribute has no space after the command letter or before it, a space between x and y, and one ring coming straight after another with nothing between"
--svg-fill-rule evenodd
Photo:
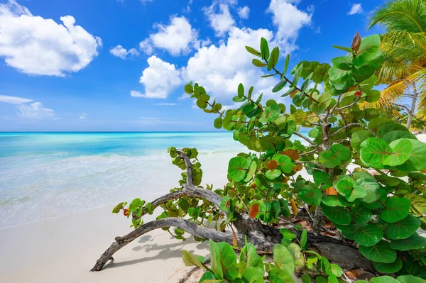
<instances>
[{"instance_id":1,"label":"round dark green leaf directly left of the lighter yellow-green round leaf","mask_svg":"<svg viewBox=\"0 0 426 283\"><path fill-rule=\"evenodd\" d=\"M392 149L381 138L367 138L361 143L360 157L365 165L383 169L383 161L391 153Z\"/></svg>"}]
</instances>

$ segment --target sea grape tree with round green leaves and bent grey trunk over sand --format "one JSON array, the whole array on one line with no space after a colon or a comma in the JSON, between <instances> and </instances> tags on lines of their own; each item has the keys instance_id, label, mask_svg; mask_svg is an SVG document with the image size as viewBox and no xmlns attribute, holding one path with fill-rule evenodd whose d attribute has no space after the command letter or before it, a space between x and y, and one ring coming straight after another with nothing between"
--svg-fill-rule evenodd
<instances>
[{"instance_id":1,"label":"sea grape tree with round green leaves and bent grey trunk over sand","mask_svg":"<svg viewBox=\"0 0 426 283\"><path fill-rule=\"evenodd\" d=\"M271 91L287 97L288 106L263 101L253 87L239 84L238 106L224 111L200 84L187 84L197 106L217 115L214 126L232 131L247 151L229 160L229 182L213 190L200 187L197 150L169 148L173 164L185 170L180 187L152 203L116 206L113 212L125 209L136 231L117 237L93 270L133 238L170 226L176 238L186 231L235 247L247 238L257 253L272 253L276 243L294 241L279 228L297 216L312 229L309 245L344 268L426 277L426 239L417 233L426 228L426 144L397 123L395 113L360 107L380 98L373 89L383 62L379 36L356 33L351 48L334 47L343 56L332 65L302 61L291 75L289 56L280 60L279 48L270 51L264 38L259 50L246 47L253 65L269 72L263 77L277 81ZM158 220L144 224L143 215L158 206L164 209ZM231 233L224 233L227 227ZM340 240L324 236L330 229ZM329 244L334 253L324 248Z\"/></svg>"}]
</instances>

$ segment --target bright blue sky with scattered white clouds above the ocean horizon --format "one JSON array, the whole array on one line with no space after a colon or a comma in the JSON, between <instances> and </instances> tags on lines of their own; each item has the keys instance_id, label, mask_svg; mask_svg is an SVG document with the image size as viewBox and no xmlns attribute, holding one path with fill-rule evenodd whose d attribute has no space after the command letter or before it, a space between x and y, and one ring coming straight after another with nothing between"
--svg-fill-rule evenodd
<instances>
[{"instance_id":1,"label":"bright blue sky with scattered white clouds above the ocean horizon","mask_svg":"<svg viewBox=\"0 0 426 283\"><path fill-rule=\"evenodd\" d=\"M241 82L264 99L274 78L244 46L261 37L290 68L329 63L383 1L0 0L0 131L215 131L183 87L226 108ZM284 60L278 62L283 65ZM291 69L290 69L291 70ZM266 71L266 70L264 70ZM287 98L286 98L287 99Z\"/></svg>"}]
</instances>

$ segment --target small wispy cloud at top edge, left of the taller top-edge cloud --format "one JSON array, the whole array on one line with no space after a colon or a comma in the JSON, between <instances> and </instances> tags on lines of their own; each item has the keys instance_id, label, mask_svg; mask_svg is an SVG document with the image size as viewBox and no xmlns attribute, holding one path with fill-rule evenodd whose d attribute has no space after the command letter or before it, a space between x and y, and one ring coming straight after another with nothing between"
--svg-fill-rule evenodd
<instances>
[{"instance_id":1,"label":"small wispy cloud at top edge, left of the taller top-edge cloud","mask_svg":"<svg viewBox=\"0 0 426 283\"><path fill-rule=\"evenodd\" d=\"M224 35L235 26L234 18L229 12L229 4L234 5L236 1L219 2L218 0L214 0L212 6L204 7L204 14L209 19L210 26L214 29L217 36Z\"/></svg>"}]
</instances>

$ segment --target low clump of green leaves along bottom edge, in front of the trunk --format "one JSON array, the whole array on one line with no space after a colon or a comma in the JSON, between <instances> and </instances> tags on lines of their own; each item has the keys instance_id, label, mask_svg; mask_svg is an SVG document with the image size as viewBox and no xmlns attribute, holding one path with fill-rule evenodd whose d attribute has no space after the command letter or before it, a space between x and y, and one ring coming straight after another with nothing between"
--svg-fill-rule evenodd
<instances>
[{"instance_id":1,"label":"low clump of green leaves along bottom edge, in front of the trunk","mask_svg":"<svg viewBox=\"0 0 426 283\"><path fill-rule=\"evenodd\" d=\"M305 230L306 232L306 230ZM285 238L296 238L296 235L285 229L282 231ZM302 236L303 237L303 236ZM276 244L273 248L273 260L266 260L266 256L257 254L256 248L251 243L245 243L239 248L241 253L237 257L234 248L228 243L214 243L209 241L211 266L204 263L204 257L195 256L182 250L182 258L185 265L201 267L204 274L200 278L202 282L295 282L293 274L302 269L306 274L302 276L303 282L338 282L343 271L338 265L330 264L326 257L322 257L313 250L305 250L301 247L303 239L297 239L297 243L285 241L283 245ZM306 240L306 239L305 239ZM303 245L302 245L303 246ZM265 276L265 274L267 274ZM310 274L309 276L307 274ZM209 281L217 280L217 281Z\"/></svg>"}]
</instances>

